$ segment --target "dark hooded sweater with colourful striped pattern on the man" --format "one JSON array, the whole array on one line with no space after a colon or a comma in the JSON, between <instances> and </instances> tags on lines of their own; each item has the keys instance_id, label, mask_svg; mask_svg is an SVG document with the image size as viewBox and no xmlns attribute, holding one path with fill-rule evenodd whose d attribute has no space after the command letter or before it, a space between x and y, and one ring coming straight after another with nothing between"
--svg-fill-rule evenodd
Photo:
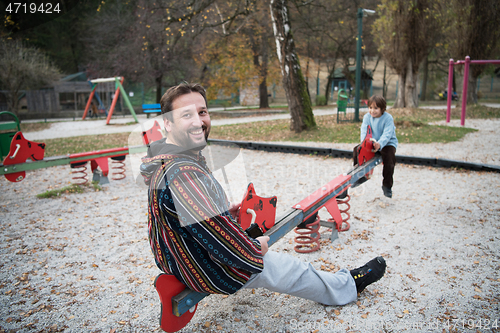
<instances>
[{"instance_id":1,"label":"dark hooded sweater with colourful striped pattern on the man","mask_svg":"<svg viewBox=\"0 0 500 333\"><path fill-rule=\"evenodd\" d=\"M213 294L233 294L262 271L260 243L228 212L226 194L201 153L156 141L141 174L149 185L149 242L160 270Z\"/></svg>"}]
</instances>

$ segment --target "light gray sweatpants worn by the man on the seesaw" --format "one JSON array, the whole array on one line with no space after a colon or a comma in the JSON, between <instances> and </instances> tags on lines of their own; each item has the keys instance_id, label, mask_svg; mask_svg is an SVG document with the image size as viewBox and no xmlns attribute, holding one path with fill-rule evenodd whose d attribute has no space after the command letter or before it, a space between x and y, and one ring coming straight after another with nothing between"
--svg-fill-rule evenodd
<instances>
[{"instance_id":1,"label":"light gray sweatpants worn by the man on the seesaw","mask_svg":"<svg viewBox=\"0 0 500 333\"><path fill-rule=\"evenodd\" d=\"M337 273L317 271L310 263L284 253L268 251L264 270L253 274L243 288L266 288L325 305L356 300L356 284L347 269Z\"/></svg>"}]
</instances>

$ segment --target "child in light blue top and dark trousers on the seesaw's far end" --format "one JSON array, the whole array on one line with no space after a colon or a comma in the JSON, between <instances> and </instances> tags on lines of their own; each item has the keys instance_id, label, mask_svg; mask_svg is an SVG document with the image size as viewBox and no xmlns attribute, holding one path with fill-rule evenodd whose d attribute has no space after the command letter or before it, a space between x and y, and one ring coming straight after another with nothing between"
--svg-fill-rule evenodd
<instances>
[{"instance_id":1,"label":"child in light blue top and dark trousers on the seesaw's far end","mask_svg":"<svg viewBox=\"0 0 500 333\"><path fill-rule=\"evenodd\" d=\"M372 128L373 138L376 140L373 143L373 149L380 152L384 163L382 190L386 197L392 198L392 176L396 165L398 139L396 138L394 120L389 113L385 112L386 106L384 97L379 95L370 97L368 100L369 113L365 114L363 124L361 124L361 141L365 139L369 125Z\"/></svg>"}]
</instances>

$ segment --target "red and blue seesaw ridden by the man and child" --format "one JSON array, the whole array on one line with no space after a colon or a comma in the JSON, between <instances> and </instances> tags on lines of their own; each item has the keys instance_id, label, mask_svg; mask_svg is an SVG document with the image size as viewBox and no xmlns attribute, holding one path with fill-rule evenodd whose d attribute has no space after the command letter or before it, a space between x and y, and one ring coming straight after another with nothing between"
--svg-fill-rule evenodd
<instances>
[{"instance_id":1,"label":"red and blue seesaw ridden by the man and child","mask_svg":"<svg viewBox=\"0 0 500 333\"><path fill-rule=\"evenodd\" d=\"M314 223L331 228L333 241L338 237L338 232L349 229L349 225L344 227L345 219L338 207L339 200L347 196L349 187L360 178L371 174L382 161L381 156L373 152L371 128L357 150L357 156L357 166L346 174L337 176L277 219L277 198L259 197L253 184L250 184L241 203L238 222L251 237L269 236L269 246L301 224L305 224L302 228ZM326 208L331 219L320 221L318 211L321 208ZM318 229L319 225L313 231L317 232ZM317 237L319 238L319 232ZM198 302L209 295L186 288L173 275L164 273L156 277L154 285L161 302L160 327L165 332L177 332L185 327L193 318Z\"/></svg>"}]
</instances>

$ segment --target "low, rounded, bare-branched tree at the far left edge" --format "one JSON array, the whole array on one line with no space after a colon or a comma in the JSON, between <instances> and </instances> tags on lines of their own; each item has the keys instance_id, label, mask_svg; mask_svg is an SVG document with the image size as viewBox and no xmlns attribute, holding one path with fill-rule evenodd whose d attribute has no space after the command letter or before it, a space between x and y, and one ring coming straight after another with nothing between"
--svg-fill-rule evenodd
<instances>
[{"instance_id":1,"label":"low, rounded, bare-branched tree at the far left edge","mask_svg":"<svg viewBox=\"0 0 500 333\"><path fill-rule=\"evenodd\" d=\"M59 70L48 57L22 42L0 39L0 86L7 90L7 106L17 114L19 94L23 89L36 89L59 78Z\"/></svg>"}]
</instances>

